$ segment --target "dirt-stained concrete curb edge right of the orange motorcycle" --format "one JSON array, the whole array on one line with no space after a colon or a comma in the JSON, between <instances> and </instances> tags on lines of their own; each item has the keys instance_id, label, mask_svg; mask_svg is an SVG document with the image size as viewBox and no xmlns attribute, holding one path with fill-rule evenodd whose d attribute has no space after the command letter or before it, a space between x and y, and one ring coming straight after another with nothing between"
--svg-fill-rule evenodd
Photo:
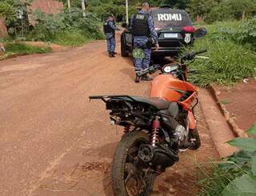
<instances>
[{"instance_id":1,"label":"dirt-stained concrete curb edge right of the orange motorcycle","mask_svg":"<svg viewBox=\"0 0 256 196\"><path fill-rule=\"evenodd\" d=\"M228 122L234 135L239 138L248 138L249 136L246 134L246 132L238 127L238 125L234 122L234 118L231 117L230 112L226 110L226 107L220 102L215 86L210 85L209 90L210 94L212 94L214 100L216 101L218 108L222 111L223 116L226 118L226 122Z\"/></svg>"}]
</instances>

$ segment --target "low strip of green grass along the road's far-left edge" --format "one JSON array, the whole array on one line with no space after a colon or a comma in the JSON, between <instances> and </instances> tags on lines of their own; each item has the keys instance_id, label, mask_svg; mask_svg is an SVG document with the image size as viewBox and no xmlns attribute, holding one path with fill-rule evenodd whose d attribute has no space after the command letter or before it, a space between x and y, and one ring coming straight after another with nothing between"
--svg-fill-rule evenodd
<instances>
[{"instance_id":1,"label":"low strip of green grass along the road's far-left edge","mask_svg":"<svg viewBox=\"0 0 256 196\"><path fill-rule=\"evenodd\" d=\"M12 54L42 54L51 52L50 47L30 46L25 43L7 42L5 44L6 55Z\"/></svg>"}]
</instances>

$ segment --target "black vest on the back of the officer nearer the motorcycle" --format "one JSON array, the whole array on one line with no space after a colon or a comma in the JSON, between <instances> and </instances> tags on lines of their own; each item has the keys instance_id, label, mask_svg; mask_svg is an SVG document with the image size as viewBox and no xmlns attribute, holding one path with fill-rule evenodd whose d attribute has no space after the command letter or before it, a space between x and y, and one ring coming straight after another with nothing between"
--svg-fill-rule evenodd
<instances>
[{"instance_id":1,"label":"black vest on the back of the officer nearer the motorcycle","mask_svg":"<svg viewBox=\"0 0 256 196\"><path fill-rule=\"evenodd\" d=\"M132 34L134 36L150 37L150 27L148 25L149 14L138 13L134 15Z\"/></svg>"}]
</instances>

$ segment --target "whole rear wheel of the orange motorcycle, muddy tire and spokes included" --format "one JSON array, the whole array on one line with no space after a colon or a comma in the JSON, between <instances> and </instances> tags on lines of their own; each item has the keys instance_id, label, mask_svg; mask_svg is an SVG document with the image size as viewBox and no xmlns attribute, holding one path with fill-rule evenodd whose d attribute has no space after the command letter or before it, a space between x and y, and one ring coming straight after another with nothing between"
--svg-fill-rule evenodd
<instances>
[{"instance_id":1,"label":"whole rear wheel of the orange motorcycle, muddy tire and spokes included","mask_svg":"<svg viewBox=\"0 0 256 196\"><path fill-rule=\"evenodd\" d=\"M115 150L111 178L116 196L148 196L154 186L156 173L143 166L138 148L150 142L142 131L126 134Z\"/></svg>"}]
</instances>

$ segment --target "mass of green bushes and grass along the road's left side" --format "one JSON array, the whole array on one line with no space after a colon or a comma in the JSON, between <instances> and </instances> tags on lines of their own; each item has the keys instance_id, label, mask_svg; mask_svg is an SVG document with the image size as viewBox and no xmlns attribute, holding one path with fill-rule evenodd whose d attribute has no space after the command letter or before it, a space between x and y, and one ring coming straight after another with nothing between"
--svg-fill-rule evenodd
<instances>
[{"instance_id":1,"label":"mass of green bushes and grass along the road's left side","mask_svg":"<svg viewBox=\"0 0 256 196\"><path fill-rule=\"evenodd\" d=\"M83 17L82 9L79 7L72 7L70 10L65 7L58 14L45 14L40 10L31 13L28 9L31 2L31 0L1 1L0 17L5 19L10 35L8 40L42 41L65 46L81 46L86 42L103 38L100 26L98 26L99 19L95 14L86 12L86 17ZM23 12L22 19L17 17L18 10ZM33 26L31 26L28 14L31 14L33 18ZM5 40L3 44L7 44ZM27 45L24 46L26 47L23 49L28 49L27 54L30 54L31 50ZM42 48L42 50L45 49ZM38 52L40 51L38 50Z\"/></svg>"}]
</instances>

